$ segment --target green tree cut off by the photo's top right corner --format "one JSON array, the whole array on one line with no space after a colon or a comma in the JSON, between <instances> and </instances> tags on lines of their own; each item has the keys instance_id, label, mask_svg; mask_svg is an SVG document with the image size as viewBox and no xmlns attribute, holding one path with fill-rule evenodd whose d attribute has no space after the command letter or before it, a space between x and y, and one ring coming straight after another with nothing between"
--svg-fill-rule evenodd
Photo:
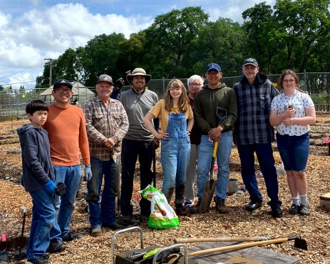
<instances>
[{"instance_id":1,"label":"green tree cut off by the photo's top right corner","mask_svg":"<svg viewBox=\"0 0 330 264\"><path fill-rule=\"evenodd\" d=\"M277 0L276 20L285 28L287 66L308 68L311 48L329 36L329 0ZM329 39L328 39L329 41Z\"/></svg>"}]
</instances>

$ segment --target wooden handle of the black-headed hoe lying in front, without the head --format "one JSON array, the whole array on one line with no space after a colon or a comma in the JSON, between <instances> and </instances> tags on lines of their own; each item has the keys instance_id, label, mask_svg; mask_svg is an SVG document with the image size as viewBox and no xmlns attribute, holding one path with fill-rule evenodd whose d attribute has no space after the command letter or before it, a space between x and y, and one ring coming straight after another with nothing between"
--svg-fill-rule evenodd
<instances>
[{"instance_id":1,"label":"wooden handle of the black-headed hoe lying in front, without the head","mask_svg":"<svg viewBox=\"0 0 330 264\"><path fill-rule=\"evenodd\" d=\"M199 251L188 254L188 256L199 256L199 255L210 254L210 253L214 253L214 252L239 250L241 248L254 247L256 245L269 245L269 244L274 244L274 243L283 243L283 242L287 242L288 240L289 240L289 238L276 238L276 239L270 239L270 240L266 240L266 241L243 243L243 244L239 244L239 245L228 245L226 247L216 247L216 248L211 248L209 250L199 250Z\"/></svg>"}]
</instances>

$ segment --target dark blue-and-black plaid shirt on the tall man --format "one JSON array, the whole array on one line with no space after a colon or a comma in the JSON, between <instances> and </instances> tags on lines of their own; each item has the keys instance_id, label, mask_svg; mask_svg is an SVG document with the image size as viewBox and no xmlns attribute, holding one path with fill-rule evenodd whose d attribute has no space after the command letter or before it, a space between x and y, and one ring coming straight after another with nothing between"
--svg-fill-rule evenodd
<instances>
[{"instance_id":1,"label":"dark blue-and-black plaid shirt on the tall man","mask_svg":"<svg viewBox=\"0 0 330 264\"><path fill-rule=\"evenodd\" d=\"M237 120L234 139L239 145L271 143L274 128L270 125L270 104L279 94L272 82L263 74L256 74L250 84L245 76L234 85L237 99Z\"/></svg>"}]
</instances>

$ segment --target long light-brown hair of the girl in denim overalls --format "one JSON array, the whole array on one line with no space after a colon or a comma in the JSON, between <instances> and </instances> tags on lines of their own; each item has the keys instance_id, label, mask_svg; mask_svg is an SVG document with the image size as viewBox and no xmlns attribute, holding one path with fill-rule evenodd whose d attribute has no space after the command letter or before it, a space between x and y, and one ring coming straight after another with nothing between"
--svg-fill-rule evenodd
<instances>
[{"instance_id":1,"label":"long light-brown hair of the girl in denim overalls","mask_svg":"<svg viewBox=\"0 0 330 264\"><path fill-rule=\"evenodd\" d=\"M181 95L179 97L177 106L179 107L180 112L186 112L189 106L189 99L188 99L186 87L184 86L184 83L182 83L179 79L173 79L167 85L167 90L164 97L165 109L168 110L168 112L170 112L170 110L173 108L173 98L170 96L171 86L173 88L181 88Z\"/></svg>"}]
</instances>

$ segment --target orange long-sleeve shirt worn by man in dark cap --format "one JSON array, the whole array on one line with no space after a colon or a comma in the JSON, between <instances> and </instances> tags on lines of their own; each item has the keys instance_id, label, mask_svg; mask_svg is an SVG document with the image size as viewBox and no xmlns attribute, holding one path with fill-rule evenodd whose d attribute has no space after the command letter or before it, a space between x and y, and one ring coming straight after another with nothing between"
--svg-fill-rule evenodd
<instances>
[{"instance_id":1,"label":"orange long-sleeve shirt worn by man in dark cap","mask_svg":"<svg viewBox=\"0 0 330 264\"><path fill-rule=\"evenodd\" d=\"M83 110L73 105L69 105L69 108L49 105L49 109L44 128L50 139L50 155L53 165L78 165L80 164L80 152L83 163L90 164Z\"/></svg>"}]
</instances>

